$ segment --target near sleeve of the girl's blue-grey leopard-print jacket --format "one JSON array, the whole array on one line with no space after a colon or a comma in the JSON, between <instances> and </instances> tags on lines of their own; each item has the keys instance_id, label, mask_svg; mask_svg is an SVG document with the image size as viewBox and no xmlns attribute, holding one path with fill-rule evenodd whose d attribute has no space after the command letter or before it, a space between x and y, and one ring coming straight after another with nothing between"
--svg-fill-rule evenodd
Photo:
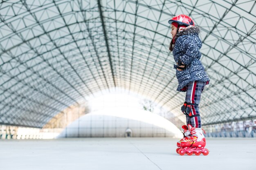
<instances>
[{"instance_id":1,"label":"near sleeve of the girl's blue-grey leopard-print jacket","mask_svg":"<svg viewBox=\"0 0 256 170\"><path fill-rule=\"evenodd\" d=\"M200 48L194 41L195 39L192 38L184 40L186 52L184 53L184 55L180 56L180 60L186 65L189 65L200 53Z\"/></svg>"}]
</instances>

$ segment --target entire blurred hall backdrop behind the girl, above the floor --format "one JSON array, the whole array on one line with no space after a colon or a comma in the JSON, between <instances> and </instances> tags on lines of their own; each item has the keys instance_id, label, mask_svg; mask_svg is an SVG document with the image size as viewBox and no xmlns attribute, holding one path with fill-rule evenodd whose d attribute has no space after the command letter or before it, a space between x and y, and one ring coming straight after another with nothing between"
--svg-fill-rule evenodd
<instances>
[{"instance_id":1,"label":"entire blurred hall backdrop behind the girl, above the floor","mask_svg":"<svg viewBox=\"0 0 256 170\"><path fill-rule=\"evenodd\" d=\"M254 0L0 2L0 139L180 137L168 20L201 27L207 137L255 137Z\"/></svg>"}]
</instances>

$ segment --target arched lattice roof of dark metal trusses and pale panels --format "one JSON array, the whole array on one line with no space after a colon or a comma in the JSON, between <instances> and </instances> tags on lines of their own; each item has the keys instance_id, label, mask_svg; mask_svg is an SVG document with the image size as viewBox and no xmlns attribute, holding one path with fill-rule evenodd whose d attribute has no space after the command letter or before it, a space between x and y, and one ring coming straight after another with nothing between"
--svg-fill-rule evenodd
<instances>
[{"instance_id":1,"label":"arched lattice roof of dark metal trusses and pale panels","mask_svg":"<svg viewBox=\"0 0 256 170\"><path fill-rule=\"evenodd\" d=\"M211 79L203 124L256 118L254 0L31 0L0 3L0 124L43 127L64 108L113 87L184 117L168 20L201 26Z\"/></svg>"}]
</instances>

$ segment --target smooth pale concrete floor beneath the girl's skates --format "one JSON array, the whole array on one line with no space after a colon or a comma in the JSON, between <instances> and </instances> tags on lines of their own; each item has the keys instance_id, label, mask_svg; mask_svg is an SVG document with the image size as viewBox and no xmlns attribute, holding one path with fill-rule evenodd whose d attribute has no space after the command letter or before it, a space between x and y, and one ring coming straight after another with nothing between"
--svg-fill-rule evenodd
<instances>
[{"instance_id":1,"label":"smooth pale concrete floor beneath the girl's skates","mask_svg":"<svg viewBox=\"0 0 256 170\"><path fill-rule=\"evenodd\" d=\"M256 170L256 139L207 138L208 156L180 156L177 139L0 140L0 170Z\"/></svg>"}]
</instances>

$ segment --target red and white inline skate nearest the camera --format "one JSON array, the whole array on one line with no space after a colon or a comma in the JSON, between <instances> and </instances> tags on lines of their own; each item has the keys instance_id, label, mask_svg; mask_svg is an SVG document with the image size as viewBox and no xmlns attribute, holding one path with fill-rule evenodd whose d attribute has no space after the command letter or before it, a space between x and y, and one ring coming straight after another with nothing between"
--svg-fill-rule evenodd
<instances>
[{"instance_id":1,"label":"red and white inline skate nearest the camera","mask_svg":"<svg viewBox=\"0 0 256 170\"><path fill-rule=\"evenodd\" d=\"M188 128L190 135L180 140L179 145L181 148L178 150L178 153L180 155L200 155L201 153L208 155L209 150L204 148L206 145L206 140L203 135L204 130L202 128L191 128L191 126L188 126Z\"/></svg>"}]
</instances>

